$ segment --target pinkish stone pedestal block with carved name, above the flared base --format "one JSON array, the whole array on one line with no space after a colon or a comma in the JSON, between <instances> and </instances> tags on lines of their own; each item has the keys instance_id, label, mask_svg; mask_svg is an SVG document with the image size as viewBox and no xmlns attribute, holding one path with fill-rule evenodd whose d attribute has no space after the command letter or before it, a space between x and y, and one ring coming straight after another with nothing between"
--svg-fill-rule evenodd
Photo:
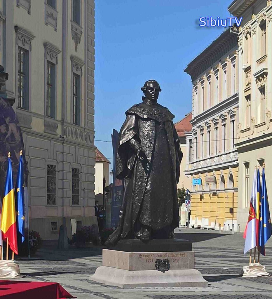
<instances>
[{"instance_id":1,"label":"pinkish stone pedestal block with carved name, above the flared base","mask_svg":"<svg viewBox=\"0 0 272 299\"><path fill-rule=\"evenodd\" d=\"M169 260L169 269L194 269L193 251L182 252L126 252L103 249L103 266L124 270L158 270L157 265ZM158 267L158 266L157 266ZM159 270L160 271L160 270Z\"/></svg>"}]
</instances>

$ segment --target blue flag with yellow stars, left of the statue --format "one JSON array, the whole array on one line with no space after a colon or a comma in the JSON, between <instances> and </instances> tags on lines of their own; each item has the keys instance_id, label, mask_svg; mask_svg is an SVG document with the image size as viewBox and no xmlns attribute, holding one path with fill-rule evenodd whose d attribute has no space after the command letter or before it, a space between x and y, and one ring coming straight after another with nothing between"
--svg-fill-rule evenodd
<instances>
[{"instance_id":1,"label":"blue flag with yellow stars, left of the statue","mask_svg":"<svg viewBox=\"0 0 272 299\"><path fill-rule=\"evenodd\" d=\"M22 151L20 153L20 163L15 188L16 194L16 220L18 231L22 236L22 242L25 240L25 190L24 190L24 164Z\"/></svg>"}]
</instances>

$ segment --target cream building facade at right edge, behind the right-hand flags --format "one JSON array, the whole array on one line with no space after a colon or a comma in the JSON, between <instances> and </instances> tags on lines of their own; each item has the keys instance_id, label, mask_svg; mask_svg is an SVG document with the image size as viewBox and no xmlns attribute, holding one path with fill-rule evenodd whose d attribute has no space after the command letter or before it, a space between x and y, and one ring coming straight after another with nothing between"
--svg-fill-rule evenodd
<instances>
[{"instance_id":1,"label":"cream building facade at right edge, behind the right-hand flags","mask_svg":"<svg viewBox=\"0 0 272 299\"><path fill-rule=\"evenodd\" d=\"M239 202L237 219L245 229L255 166L265 162L272 206L272 2L233 1L228 10L243 17L239 27ZM260 167L262 172L262 167Z\"/></svg>"}]
</instances>

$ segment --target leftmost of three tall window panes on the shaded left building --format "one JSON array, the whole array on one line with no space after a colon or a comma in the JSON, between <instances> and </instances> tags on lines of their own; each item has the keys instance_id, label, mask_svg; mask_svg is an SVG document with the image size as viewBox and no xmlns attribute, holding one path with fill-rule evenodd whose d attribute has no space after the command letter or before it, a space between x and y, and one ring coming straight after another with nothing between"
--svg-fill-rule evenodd
<instances>
[{"instance_id":1,"label":"leftmost of three tall window panes on the shaded left building","mask_svg":"<svg viewBox=\"0 0 272 299\"><path fill-rule=\"evenodd\" d=\"M18 47L18 107L28 109L28 51Z\"/></svg>"}]
</instances>

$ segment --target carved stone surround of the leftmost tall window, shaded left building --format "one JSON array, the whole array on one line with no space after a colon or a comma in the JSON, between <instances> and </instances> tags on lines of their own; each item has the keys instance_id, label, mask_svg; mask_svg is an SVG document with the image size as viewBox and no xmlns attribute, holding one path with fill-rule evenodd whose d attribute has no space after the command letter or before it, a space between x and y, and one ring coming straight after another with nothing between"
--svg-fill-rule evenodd
<instances>
[{"instance_id":1,"label":"carved stone surround of the leftmost tall window, shaded left building","mask_svg":"<svg viewBox=\"0 0 272 299\"><path fill-rule=\"evenodd\" d=\"M27 30L15 26L14 30L16 32L16 49L15 49L15 98L18 99L18 48L22 48L27 51L28 54L28 84L27 84L27 96L28 96L28 106L26 110L31 110L31 42L36 37ZM18 107L18 103L17 103Z\"/></svg>"}]
</instances>

